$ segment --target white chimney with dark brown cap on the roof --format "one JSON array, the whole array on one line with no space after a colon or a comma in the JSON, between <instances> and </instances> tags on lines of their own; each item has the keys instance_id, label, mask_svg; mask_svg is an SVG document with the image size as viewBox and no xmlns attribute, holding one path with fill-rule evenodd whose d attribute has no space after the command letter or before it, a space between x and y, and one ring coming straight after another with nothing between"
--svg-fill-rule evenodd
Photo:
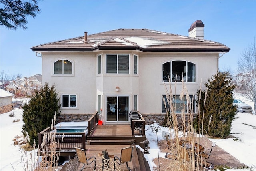
<instances>
[{"instance_id":1,"label":"white chimney with dark brown cap on the roof","mask_svg":"<svg viewBox=\"0 0 256 171\"><path fill-rule=\"evenodd\" d=\"M201 20L193 22L188 29L188 35L192 38L204 39L204 23Z\"/></svg>"}]
</instances>

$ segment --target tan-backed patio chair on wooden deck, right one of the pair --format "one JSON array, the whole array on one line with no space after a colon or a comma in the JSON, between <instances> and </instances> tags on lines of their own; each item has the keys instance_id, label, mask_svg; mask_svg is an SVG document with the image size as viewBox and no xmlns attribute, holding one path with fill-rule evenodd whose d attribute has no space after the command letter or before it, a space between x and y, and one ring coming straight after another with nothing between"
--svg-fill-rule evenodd
<instances>
[{"instance_id":1,"label":"tan-backed patio chair on wooden deck, right one of the pair","mask_svg":"<svg viewBox=\"0 0 256 171\"><path fill-rule=\"evenodd\" d=\"M121 149L121 157L114 157L114 169L116 170L116 163L121 165L122 163L126 163L127 169L131 171L130 167L128 167L128 162L132 161L132 148L126 147ZM116 162L115 162L116 161ZM118 162L119 161L119 162Z\"/></svg>"}]
</instances>

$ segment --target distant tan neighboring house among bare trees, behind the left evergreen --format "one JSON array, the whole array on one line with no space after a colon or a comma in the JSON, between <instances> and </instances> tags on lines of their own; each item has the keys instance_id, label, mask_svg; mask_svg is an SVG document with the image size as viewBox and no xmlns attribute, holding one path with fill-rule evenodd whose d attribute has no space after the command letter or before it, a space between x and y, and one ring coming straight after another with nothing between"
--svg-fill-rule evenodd
<instances>
[{"instance_id":1,"label":"distant tan neighboring house among bare trees, behind the left evergreen","mask_svg":"<svg viewBox=\"0 0 256 171\"><path fill-rule=\"evenodd\" d=\"M42 75L36 74L31 77L24 77L11 82L6 86L6 90L15 94L16 97L31 96L35 89L42 87Z\"/></svg>"}]
</instances>

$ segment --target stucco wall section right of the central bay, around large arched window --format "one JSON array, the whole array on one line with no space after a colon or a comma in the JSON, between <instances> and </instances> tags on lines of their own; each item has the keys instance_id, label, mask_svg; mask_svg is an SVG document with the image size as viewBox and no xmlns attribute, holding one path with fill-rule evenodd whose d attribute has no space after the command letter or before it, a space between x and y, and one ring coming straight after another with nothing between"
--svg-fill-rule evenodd
<instances>
[{"instance_id":1,"label":"stucco wall section right of the central bay, around large arched window","mask_svg":"<svg viewBox=\"0 0 256 171\"><path fill-rule=\"evenodd\" d=\"M169 83L162 82L162 64L172 60L185 60L196 64L196 82L186 83L188 93L196 94L201 80L207 82L208 78L217 71L218 54L141 54L140 66L140 113L162 113L162 95L166 95L165 86ZM172 83L173 95L179 95L182 83Z\"/></svg>"}]
</instances>

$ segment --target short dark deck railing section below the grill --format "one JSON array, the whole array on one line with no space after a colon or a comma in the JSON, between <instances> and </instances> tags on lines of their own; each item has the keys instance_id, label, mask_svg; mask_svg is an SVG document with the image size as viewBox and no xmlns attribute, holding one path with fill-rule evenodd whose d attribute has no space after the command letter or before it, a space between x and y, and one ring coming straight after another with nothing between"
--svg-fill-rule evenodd
<instances>
[{"instance_id":1,"label":"short dark deck railing section below the grill","mask_svg":"<svg viewBox=\"0 0 256 171\"><path fill-rule=\"evenodd\" d=\"M132 120L132 136L145 136L145 120L138 113L141 120Z\"/></svg>"}]
</instances>

